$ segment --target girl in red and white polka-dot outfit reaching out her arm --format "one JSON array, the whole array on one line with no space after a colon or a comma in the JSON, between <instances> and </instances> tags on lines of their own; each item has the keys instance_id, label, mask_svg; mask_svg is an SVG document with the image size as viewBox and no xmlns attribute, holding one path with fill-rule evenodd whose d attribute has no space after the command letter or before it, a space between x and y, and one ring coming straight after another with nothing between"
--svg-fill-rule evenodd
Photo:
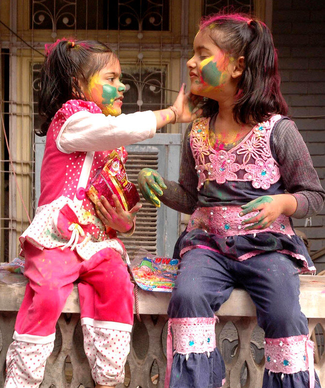
<instances>
[{"instance_id":1,"label":"girl in red and white polka-dot outfit reaching out her arm","mask_svg":"<svg viewBox=\"0 0 325 388\"><path fill-rule=\"evenodd\" d=\"M76 280L93 379L98 388L115 387L123 382L133 324L133 285L116 232L133 232L141 205L125 211L114 196L115 208L103 200L97 213L85 190L113 149L125 162L122 146L151 138L168 123L189 122L195 113L182 87L168 109L120 114L125 86L111 49L65 39L46 49L39 99L46 121L37 133L47 136L41 194L20 237L29 283L7 354L5 388L42 382L55 325Z\"/></svg>"}]
</instances>

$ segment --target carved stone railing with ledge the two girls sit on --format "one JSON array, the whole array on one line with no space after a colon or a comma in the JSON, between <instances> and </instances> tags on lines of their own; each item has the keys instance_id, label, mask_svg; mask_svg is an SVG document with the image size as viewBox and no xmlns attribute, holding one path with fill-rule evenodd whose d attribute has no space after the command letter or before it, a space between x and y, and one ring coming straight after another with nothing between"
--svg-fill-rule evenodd
<instances>
[{"instance_id":1,"label":"carved stone railing with ledge the two girls sit on","mask_svg":"<svg viewBox=\"0 0 325 388\"><path fill-rule=\"evenodd\" d=\"M325 276L301 275L300 304L308 317L310 334L318 324L325 333ZM3 387L5 356L12 341L17 310L26 280L22 275L0 273L0 387ZM135 318L131 352L128 356L124 384L117 387L163 388L166 367L166 323L169 293L138 292L141 322ZM217 344L226 363L226 384L231 388L258 388L262 385L264 357L260 333L256 330L256 310L248 294L234 290L218 311ZM224 333L232 322L234 336ZM219 340L218 340L219 339ZM324 336L319 340L323 340ZM315 357L316 358L316 357ZM315 370L325 387L325 352L318 353ZM47 361L42 388L94 387L83 349L78 291L75 287L61 314L54 350Z\"/></svg>"}]
</instances>

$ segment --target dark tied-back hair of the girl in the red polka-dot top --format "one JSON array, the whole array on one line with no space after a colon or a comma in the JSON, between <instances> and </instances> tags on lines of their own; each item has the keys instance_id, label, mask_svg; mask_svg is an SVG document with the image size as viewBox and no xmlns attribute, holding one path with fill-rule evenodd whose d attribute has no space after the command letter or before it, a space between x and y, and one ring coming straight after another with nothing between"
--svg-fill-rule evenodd
<instances>
[{"instance_id":1,"label":"dark tied-back hair of the girl in the red polka-dot top","mask_svg":"<svg viewBox=\"0 0 325 388\"><path fill-rule=\"evenodd\" d=\"M45 136L54 114L69 99L86 100L80 82L89 79L118 57L106 44L97 41L57 40L45 45L46 55L40 72L38 110L45 117L38 136Z\"/></svg>"}]
</instances>

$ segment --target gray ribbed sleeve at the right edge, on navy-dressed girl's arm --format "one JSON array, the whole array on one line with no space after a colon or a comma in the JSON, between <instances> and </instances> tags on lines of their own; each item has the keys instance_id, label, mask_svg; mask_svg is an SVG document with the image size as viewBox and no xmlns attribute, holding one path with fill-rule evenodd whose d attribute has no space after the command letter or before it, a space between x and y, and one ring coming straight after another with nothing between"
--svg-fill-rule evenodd
<instances>
[{"instance_id":1,"label":"gray ribbed sleeve at the right edge, on navy-dressed girl's arm","mask_svg":"<svg viewBox=\"0 0 325 388\"><path fill-rule=\"evenodd\" d=\"M283 119L274 127L273 147L284 186L297 200L292 217L307 218L317 214L323 208L325 190L293 121Z\"/></svg>"}]
</instances>

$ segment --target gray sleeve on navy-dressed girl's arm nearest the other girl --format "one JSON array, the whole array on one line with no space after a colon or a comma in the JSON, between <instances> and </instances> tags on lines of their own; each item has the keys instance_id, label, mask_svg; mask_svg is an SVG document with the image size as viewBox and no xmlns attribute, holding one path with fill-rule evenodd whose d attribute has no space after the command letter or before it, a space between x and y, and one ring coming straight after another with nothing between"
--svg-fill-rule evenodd
<instances>
[{"instance_id":1,"label":"gray sleeve on navy-dressed girl's arm nearest the other girl","mask_svg":"<svg viewBox=\"0 0 325 388\"><path fill-rule=\"evenodd\" d=\"M198 200L198 177L195 162L189 145L190 124L185 132L182 145L181 166L178 183L164 179L167 189L159 197L162 203L171 209L192 214Z\"/></svg>"}]
</instances>

